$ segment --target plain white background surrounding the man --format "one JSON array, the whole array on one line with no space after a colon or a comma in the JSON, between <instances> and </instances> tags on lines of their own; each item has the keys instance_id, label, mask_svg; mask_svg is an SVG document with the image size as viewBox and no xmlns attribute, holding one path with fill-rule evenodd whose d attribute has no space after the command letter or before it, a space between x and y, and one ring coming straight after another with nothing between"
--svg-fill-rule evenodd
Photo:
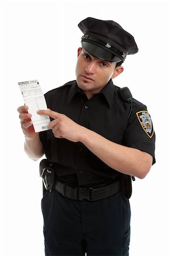
<instances>
[{"instance_id":1,"label":"plain white background surrounding the man","mask_svg":"<svg viewBox=\"0 0 170 256\"><path fill-rule=\"evenodd\" d=\"M40 161L24 154L18 82L38 79L45 93L74 80L82 36L77 24L88 16L118 22L138 44L139 52L127 57L125 71L114 80L147 105L156 131L156 164L133 183L130 255L169 255L168 1L1 3L1 255L44 255Z\"/></svg>"}]
</instances>

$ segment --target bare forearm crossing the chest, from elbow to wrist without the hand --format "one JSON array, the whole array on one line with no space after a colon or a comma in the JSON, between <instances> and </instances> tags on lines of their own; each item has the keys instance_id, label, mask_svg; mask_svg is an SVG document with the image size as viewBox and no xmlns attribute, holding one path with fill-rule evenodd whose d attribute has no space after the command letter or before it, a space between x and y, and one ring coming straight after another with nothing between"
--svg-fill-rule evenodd
<instances>
[{"instance_id":1,"label":"bare forearm crossing the chest, from elbow to wrist without the hand","mask_svg":"<svg viewBox=\"0 0 170 256\"><path fill-rule=\"evenodd\" d=\"M152 156L136 148L111 142L101 135L84 128L80 141L108 166L131 176L143 179L152 165Z\"/></svg>"}]
</instances>

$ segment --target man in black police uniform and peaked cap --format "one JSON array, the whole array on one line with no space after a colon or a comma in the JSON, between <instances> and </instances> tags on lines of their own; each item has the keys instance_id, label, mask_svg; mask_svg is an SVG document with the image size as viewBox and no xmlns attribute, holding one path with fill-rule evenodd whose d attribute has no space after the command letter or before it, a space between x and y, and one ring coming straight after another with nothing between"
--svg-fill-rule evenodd
<instances>
[{"instance_id":1,"label":"man in black police uniform and peaked cap","mask_svg":"<svg viewBox=\"0 0 170 256\"><path fill-rule=\"evenodd\" d=\"M128 255L129 177L143 179L155 163L155 133L146 106L112 79L138 47L111 20L78 27L76 81L46 93L48 110L38 111L51 130L35 133L28 107L18 108L27 155L45 153L55 172L42 199L45 255Z\"/></svg>"}]
</instances>

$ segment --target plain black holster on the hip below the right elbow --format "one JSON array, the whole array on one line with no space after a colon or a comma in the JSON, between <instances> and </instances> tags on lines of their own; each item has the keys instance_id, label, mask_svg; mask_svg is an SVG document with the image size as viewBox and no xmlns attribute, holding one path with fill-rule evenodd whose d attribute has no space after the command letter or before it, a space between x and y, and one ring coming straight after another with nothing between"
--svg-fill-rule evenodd
<instances>
[{"instance_id":1,"label":"plain black holster on the hip below the right elbow","mask_svg":"<svg viewBox=\"0 0 170 256\"><path fill-rule=\"evenodd\" d=\"M127 199L132 195L132 180L135 180L134 176L121 173L121 191Z\"/></svg>"}]
</instances>

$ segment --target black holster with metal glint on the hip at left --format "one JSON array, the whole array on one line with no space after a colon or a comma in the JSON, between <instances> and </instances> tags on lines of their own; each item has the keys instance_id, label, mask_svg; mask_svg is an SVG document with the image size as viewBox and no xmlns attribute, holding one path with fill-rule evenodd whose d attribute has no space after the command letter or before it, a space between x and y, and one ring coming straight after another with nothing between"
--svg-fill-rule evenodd
<instances>
[{"instance_id":1,"label":"black holster with metal glint on the hip at left","mask_svg":"<svg viewBox=\"0 0 170 256\"><path fill-rule=\"evenodd\" d=\"M52 191L54 187L54 170L52 164L47 160L43 159L39 165L39 174L43 178L43 196L47 190Z\"/></svg>"}]
</instances>

